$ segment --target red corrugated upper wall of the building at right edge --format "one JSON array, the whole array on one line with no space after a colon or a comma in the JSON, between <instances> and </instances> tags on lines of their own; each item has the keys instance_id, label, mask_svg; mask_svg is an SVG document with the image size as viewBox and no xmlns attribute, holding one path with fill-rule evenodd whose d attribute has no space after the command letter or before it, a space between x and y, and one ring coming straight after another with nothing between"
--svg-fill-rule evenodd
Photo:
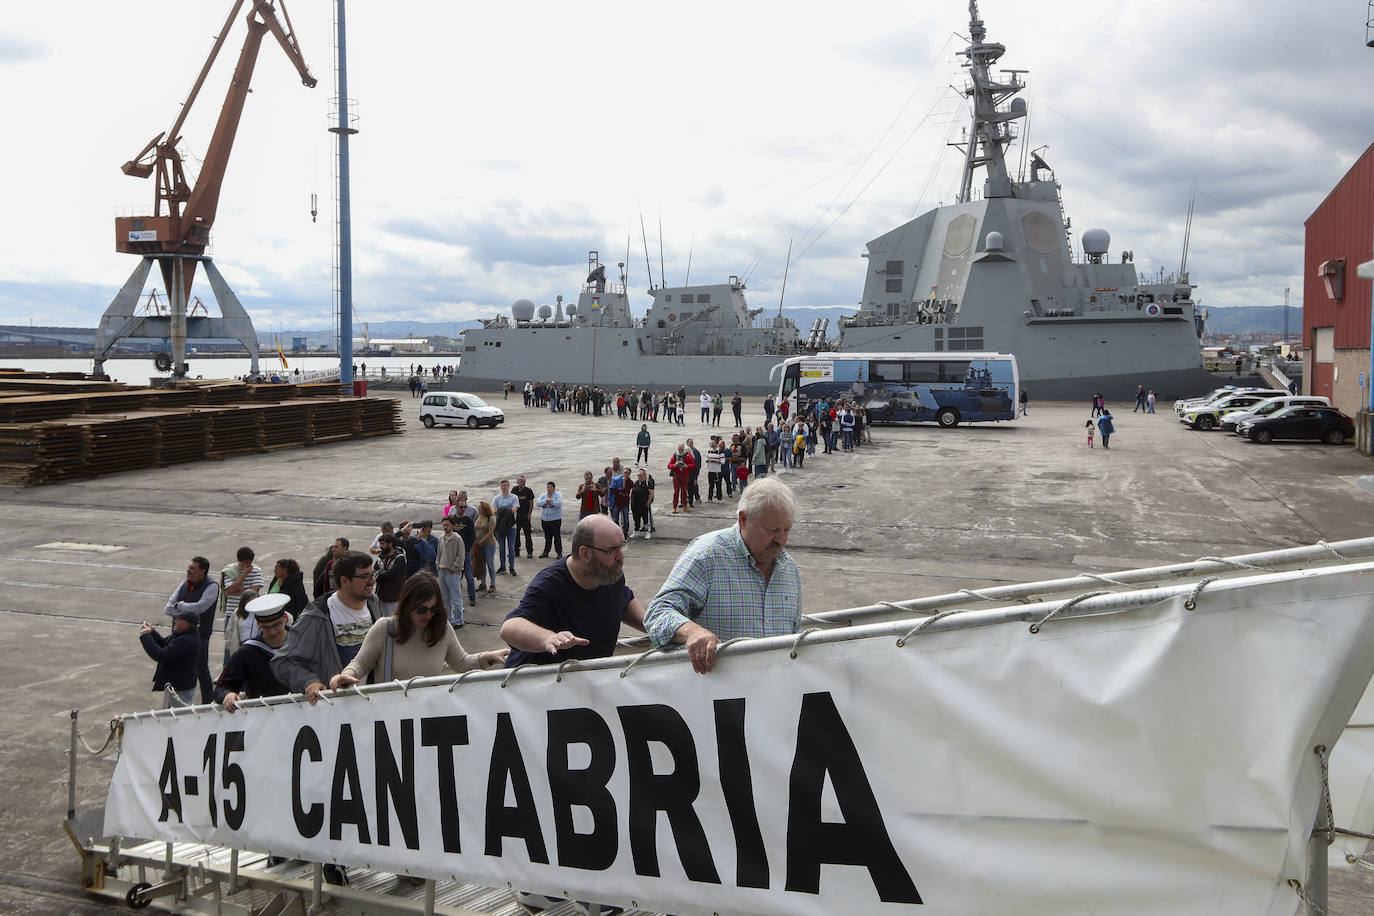
<instances>
[{"instance_id":1,"label":"red corrugated upper wall of the building at right edge","mask_svg":"<svg viewBox=\"0 0 1374 916\"><path fill-rule=\"evenodd\" d=\"M1355 275L1374 254L1374 144L1364 150L1331 194L1307 218L1303 258L1303 349L1312 328L1334 327L1336 347L1369 347L1374 284ZM1318 277L1323 261L1345 258L1345 297L1331 301Z\"/></svg>"}]
</instances>

